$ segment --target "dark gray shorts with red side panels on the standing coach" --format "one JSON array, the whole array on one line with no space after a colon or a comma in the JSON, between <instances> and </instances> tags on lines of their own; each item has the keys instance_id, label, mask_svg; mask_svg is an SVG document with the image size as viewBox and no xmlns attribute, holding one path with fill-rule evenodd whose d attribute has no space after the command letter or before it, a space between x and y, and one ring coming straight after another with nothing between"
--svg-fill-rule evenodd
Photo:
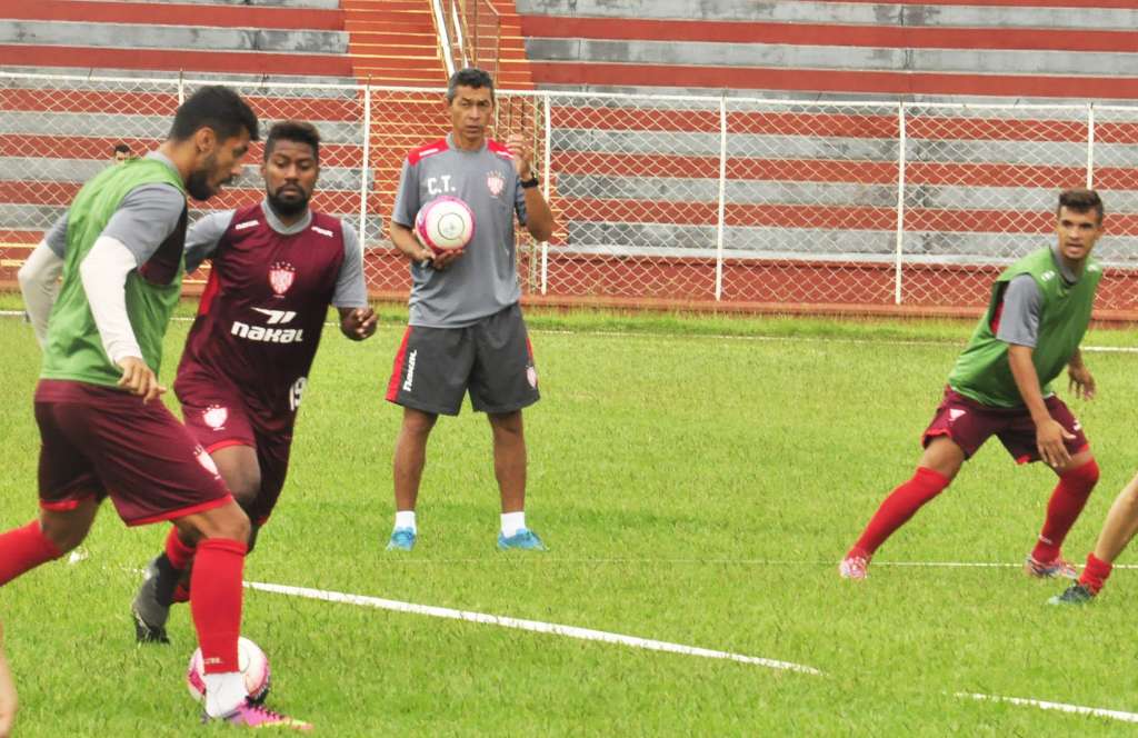
<instances>
[{"instance_id":1,"label":"dark gray shorts with red side panels on the standing coach","mask_svg":"<svg viewBox=\"0 0 1138 738\"><path fill-rule=\"evenodd\" d=\"M388 402L456 416L468 391L478 412L513 412L541 397L518 304L465 328L407 326L387 385Z\"/></svg>"}]
</instances>

